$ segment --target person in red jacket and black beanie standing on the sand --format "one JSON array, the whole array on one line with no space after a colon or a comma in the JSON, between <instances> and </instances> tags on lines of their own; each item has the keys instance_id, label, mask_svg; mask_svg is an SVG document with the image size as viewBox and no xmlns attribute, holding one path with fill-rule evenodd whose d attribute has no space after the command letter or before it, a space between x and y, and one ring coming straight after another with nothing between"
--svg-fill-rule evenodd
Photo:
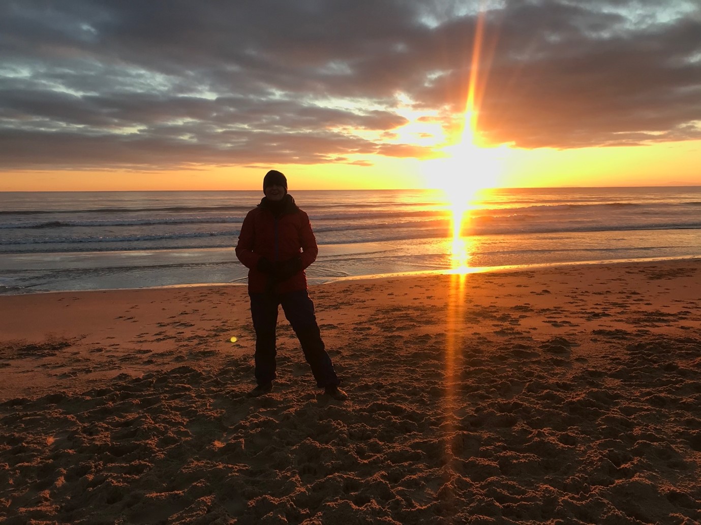
<instances>
[{"instance_id":1,"label":"person in red jacket and black beanie standing on the sand","mask_svg":"<svg viewBox=\"0 0 701 525\"><path fill-rule=\"evenodd\" d=\"M265 197L246 215L236 244L236 257L248 268L248 295L256 332L255 378L248 393L258 397L273 389L275 328L281 305L299 339L316 385L334 399L348 398L326 352L309 297L304 269L319 248L307 214L287 193L285 175L271 169L263 179Z\"/></svg>"}]
</instances>

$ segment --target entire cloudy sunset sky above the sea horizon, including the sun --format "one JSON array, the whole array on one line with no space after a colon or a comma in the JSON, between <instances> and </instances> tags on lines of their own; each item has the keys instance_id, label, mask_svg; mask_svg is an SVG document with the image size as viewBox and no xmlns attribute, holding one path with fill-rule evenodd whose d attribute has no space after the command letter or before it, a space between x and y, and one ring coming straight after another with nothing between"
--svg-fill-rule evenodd
<instances>
[{"instance_id":1,"label":"entire cloudy sunset sky above the sea horizon, including the sun","mask_svg":"<svg viewBox=\"0 0 701 525\"><path fill-rule=\"evenodd\" d=\"M0 190L701 184L697 0L5 0Z\"/></svg>"}]
</instances>

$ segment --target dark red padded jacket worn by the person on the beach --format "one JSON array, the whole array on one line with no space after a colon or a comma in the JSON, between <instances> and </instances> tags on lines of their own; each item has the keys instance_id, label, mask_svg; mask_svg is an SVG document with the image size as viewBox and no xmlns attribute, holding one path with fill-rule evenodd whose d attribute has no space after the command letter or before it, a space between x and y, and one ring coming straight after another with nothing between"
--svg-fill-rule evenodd
<instances>
[{"instance_id":1,"label":"dark red padded jacket worn by the person on the beach","mask_svg":"<svg viewBox=\"0 0 701 525\"><path fill-rule=\"evenodd\" d=\"M285 195L278 213L266 199L248 212L241 225L236 244L236 257L248 268L248 291L266 291L269 276L257 269L258 261L283 262L301 258L302 269L285 281L275 284L278 293L306 290L304 269L315 261L319 248L308 215L294 204L292 195ZM301 253L300 253L301 251Z\"/></svg>"}]
</instances>

